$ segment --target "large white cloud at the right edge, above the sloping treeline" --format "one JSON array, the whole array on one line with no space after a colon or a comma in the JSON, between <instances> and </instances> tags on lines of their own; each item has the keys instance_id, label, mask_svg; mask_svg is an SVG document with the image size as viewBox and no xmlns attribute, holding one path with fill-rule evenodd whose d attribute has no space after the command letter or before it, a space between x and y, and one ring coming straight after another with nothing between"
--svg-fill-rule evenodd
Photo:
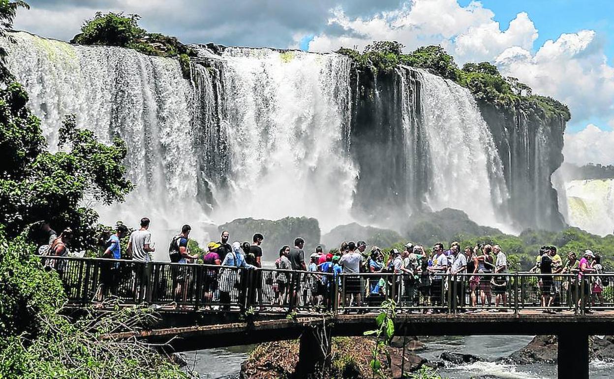
<instances>
[{"instance_id":1,"label":"large white cloud at the right edge, above the sloping treeline","mask_svg":"<svg viewBox=\"0 0 614 379\"><path fill-rule=\"evenodd\" d=\"M614 68L608 66L602 41L592 30L562 34L532 55L510 47L495 58L503 74L518 77L534 93L567 104L572 120L614 118Z\"/></svg>"}]
</instances>

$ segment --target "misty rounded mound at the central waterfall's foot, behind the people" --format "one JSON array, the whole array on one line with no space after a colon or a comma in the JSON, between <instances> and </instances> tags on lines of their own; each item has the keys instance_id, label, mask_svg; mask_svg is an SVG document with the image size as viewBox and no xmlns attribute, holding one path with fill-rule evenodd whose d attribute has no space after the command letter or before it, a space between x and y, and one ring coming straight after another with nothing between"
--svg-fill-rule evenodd
<instances>
[{"instance_id":1,"label":"misty rounded mound at the central waterfall's foot, behind the people","mask_svg":"<svg viewBox=\"0 0 614 379\"><path fill-rule=\"evenodd\" d=\"M273 261L279 257L281 246L293 246L294 239L302 237L305 240L305 256L315 251L320 242L320 227L316 219L307 217L285 217L276 221L236 219L219 226L219 232L228 230L230 241L252 242L254 233L261 233L263 259Z\"/></svg>"}]
</instances>

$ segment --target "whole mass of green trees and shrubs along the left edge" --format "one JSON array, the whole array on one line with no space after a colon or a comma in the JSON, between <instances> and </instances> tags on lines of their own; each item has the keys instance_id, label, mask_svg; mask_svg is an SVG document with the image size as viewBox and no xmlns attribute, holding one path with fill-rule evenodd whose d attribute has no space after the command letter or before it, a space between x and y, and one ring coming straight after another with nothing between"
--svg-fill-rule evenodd
<instances>
[{"instance_id":1,"label":"whole mass of green trees and shrubs along the left edge","mask_svg":"<svg viewBox=\"0 0 614 379\"><path fill-rule=\"evenodd\" d=\"M0 34L24 2L0 0ZM68 116L60 128L61 151L50 153L28 95L7 71L0 51L0 378L185 378L170 359L136 340L111 332L138 330L153 320L132 308L68 318L63 284L42 268L29 241L31 224L47 220L71 227L71 248L95 249L101 225L85 201L122 201L132 184L120 139L111 146L76 127Z\"/></svg>"}]
</instances>

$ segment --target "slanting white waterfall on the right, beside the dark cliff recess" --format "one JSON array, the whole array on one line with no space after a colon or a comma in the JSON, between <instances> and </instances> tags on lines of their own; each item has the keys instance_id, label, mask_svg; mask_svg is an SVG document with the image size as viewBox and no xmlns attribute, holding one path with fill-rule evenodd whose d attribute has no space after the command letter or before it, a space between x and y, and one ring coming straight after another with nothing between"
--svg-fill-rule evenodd
<instances>
[{"instance_id":1,"label":"slanting white waterfall on the right, beside the dark cliff recess","mask_svg":"<svg viewBox=\"0 0 614 379\"><path fill-rule=\"evenodd\" d=\"M451 80L421 69L402 68L405 77L413 74L421 83L419 102L408 98L410 106L402 109L404 113L418 112L403 115L406 135L412 139L406 145L414 149L406 159L414 173L420 172L416 157L428 166L426 178L414 176L428 183L427 205L433 210L461 209L478 224L510 231L503 165L473 95ZM418 109L413 110L411 105L418 103ZM422 134L416 130L424 133L424 143L416 141Z\"/></svg>"}]
</instances>

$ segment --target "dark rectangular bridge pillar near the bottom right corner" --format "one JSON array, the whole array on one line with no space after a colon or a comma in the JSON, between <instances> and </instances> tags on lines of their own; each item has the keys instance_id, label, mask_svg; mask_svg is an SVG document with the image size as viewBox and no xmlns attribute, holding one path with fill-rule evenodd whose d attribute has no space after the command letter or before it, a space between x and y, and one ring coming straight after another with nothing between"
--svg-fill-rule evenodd
<instances>
[{"instance_id":1,"label":"dark rectangular bridge pillar near the bottom right corner","mask_svg":"<svg viewBox=\"0 0 614 379\"><path fill-rule=\"evenodd\" d=\"M588 333L559 334L558 377L588 379Z\"/></svg>"}]
</instances>

